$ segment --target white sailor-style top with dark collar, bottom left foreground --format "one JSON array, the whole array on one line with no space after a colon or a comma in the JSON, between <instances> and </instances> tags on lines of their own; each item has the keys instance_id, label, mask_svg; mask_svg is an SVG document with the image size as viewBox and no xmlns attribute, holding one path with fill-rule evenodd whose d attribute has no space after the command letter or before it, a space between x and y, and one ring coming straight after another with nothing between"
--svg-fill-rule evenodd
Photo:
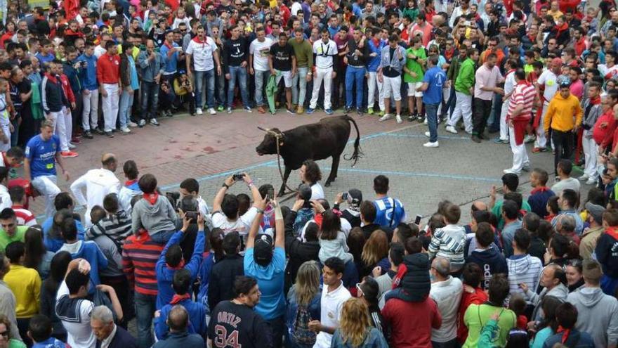
<instances>
[{"instance_id":1,"label":"white sailor-style top with dark collar, bottom left foreground","mask_svg":"<svg viewBox=\"0 0 618 348\"><path fill-rule=\"evenodd\" d=\"M58 293L55 295L56 299L56 314L60 321L62 321L63 326L67 329L67 343L72 348L94 348L96 347L96 337L92 332L92 328L90 327L90 314L94 309L93 302L88 301L88 299L81 299L79 302L79 308L72 318L68 318L65 316L61 316L61 313L58 313L58 299L63 296L69 296L69 288L67 288L67 284L63 281L60 284L60 288L58 289ZM79 321L76 321L75 318L79 317Z\"/></svg>"}]
</instances>

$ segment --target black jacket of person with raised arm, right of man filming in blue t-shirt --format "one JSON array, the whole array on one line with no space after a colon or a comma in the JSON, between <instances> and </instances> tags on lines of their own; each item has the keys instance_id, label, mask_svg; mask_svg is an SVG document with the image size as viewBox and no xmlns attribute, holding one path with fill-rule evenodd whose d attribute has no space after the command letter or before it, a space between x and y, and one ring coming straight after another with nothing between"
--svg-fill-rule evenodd
<instances>
[{"instance_id":1,"label":"black jacket of person with raised arm, right of man filming in blue t-shirt","mask_svg":"<svg viewBox=\"0 0 618 348\"><path fill-rule=\"evenodd\" d=\"M294 236L294 220L296 212L290 211L285 217L285 252L289 256L289 262L285 267L285 292L296 280L296 273L303 262L317 261L317 253L320 252L320 242L301 242ZM211 307L212 308L212 307Z\"/></svg>"}]
</instances>

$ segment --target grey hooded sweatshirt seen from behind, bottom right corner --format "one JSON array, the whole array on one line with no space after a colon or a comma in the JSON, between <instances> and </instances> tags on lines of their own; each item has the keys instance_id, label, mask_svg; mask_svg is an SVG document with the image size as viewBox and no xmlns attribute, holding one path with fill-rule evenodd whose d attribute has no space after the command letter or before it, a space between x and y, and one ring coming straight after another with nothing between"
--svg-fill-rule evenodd
<instances>
[{"instance_id":1,"label":"grey hooded sweatshirt seen from behind, bottom right corner","mask_svg":"<svg viewBox=\"0 0 618 348\"><path fill-rule=\"evenodd\" d=\"M600 288L581 288L567 296L577 308L575 328L589 333L595 347L608 347L618 342L618 300L605 295Z\"/></svg>"}]
</instances>

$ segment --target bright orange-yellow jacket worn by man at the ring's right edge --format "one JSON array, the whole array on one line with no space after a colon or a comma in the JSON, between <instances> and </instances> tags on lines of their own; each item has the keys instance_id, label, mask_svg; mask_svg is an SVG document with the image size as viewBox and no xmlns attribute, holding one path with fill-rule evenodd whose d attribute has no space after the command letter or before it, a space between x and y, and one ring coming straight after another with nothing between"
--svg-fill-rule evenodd
<instances>
[{"instance_id":1,"label":"bright orange-yellow jacket worn by man at the ring's right edge","mask_svg":"<svg viewBox=\"0 0 618 348\"><path fill-rule=\"evenodd\" d=\"M545 133L550 127L556 131L572 131L575 126L581 125L582 116L579 99L572 94L565 99L558 92L549 102L543 128Z\"/></svg>"}]
</instances>

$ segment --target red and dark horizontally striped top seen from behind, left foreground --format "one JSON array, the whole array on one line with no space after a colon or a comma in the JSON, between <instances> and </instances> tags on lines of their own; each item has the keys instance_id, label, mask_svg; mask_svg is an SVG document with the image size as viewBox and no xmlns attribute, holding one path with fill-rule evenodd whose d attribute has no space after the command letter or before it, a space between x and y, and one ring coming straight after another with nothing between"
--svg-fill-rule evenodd
<instances>
[{"instance_id":1,"label":"red and dark horizontally striped top seen from behind, left foreground","mask_svg":"<svg viewBox=\"0 0 618 348\"><path fill-rule=\"evenodd\" d=\"M135 290L143 295L157 295L155 266L163 251L163 244L155 243L145 230L139 236L129 236L122 248L122 269Z\"/></svg>"}]
</instances>

